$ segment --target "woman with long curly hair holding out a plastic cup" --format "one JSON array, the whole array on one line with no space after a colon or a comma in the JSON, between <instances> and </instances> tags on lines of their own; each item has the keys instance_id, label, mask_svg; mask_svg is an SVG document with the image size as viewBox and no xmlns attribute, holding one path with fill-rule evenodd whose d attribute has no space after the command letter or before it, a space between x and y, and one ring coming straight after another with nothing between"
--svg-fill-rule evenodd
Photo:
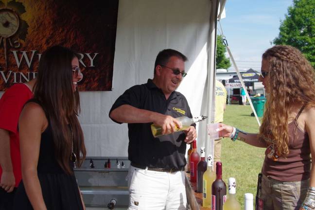
<instances>
[{"instance_id":1,"label":"woman with long curly hair holding out a plastic cup","mask_svg":"<svg viewBox=\"0 0 315 210\"><path fill-rule=\"evenodd\" d=\"M266 148L259 193L264 210L315 208L314 69L296 48L276 45L262 55L260 81L267 100L259 134L225 124L220 132Z\"/></svg>"}]
</instances>

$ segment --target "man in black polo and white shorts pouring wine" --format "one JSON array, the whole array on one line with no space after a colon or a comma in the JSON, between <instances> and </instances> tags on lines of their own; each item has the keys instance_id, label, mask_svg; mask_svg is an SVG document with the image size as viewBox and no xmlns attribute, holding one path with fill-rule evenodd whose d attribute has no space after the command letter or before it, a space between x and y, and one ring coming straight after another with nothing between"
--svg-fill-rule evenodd
<instances>
[{"instance_id":1,"label":"man in black polo and white shorts pouring wine","mask_svg":"<svg viewBox=\"0 0 315 210\"><path fill-rule=\"evenodd\" d=\"M127 89L109 111L117 123L128 123L129 210L186 210L186 143L195 140L194 126L175 132L175 118L192 117L183 94L175 91L185 72L187 57L166 49L157 54L153 80ZM155 138L151 124L168 134Z\"/></svg>"}]
</instances>

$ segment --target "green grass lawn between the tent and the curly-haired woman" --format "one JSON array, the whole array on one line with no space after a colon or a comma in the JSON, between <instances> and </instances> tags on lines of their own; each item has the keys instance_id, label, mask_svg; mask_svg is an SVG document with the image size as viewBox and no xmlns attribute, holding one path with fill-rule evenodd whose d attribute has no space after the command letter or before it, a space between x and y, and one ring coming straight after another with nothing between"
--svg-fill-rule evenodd
<instances>
[{"instance_id":1,"label":"green grass lawn between the tent and the curly-haired woman","mask_svg":"<svg viewBox=\"0 0 315 210\"><path fill-rule=\"evenodd\" d=\"M248 133L258 133L259 125L256 118L250 116L251 113L250 105L227 105L223 123ZM236 196L242 209L246 192L254 195L255 204L257 177L262 169L264 151L264 148L257 148L241 141L233 142L229 138L222 140L223 179L228 186L228 177L236 178Z\"/></svg>"}]
</instances>

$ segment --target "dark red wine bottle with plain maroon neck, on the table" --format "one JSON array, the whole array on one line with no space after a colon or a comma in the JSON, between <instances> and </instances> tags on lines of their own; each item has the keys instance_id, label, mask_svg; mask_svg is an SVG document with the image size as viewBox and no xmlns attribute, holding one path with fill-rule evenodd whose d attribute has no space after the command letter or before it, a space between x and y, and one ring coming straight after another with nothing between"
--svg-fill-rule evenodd
<instances>
[{"instance_id":1,"label":"dark red wine bottle with plain maroon neck, on the table","mask_svg":"<svg viewBox=\"0 0 315 210\"><path fill-rule=\"evenodd\" d=\"M222 180L222 163L216 163L216 179L212 183L212 208L211 210L223 210L223 204L227 200L227 186Z\"/></svg>"}]
</instances>

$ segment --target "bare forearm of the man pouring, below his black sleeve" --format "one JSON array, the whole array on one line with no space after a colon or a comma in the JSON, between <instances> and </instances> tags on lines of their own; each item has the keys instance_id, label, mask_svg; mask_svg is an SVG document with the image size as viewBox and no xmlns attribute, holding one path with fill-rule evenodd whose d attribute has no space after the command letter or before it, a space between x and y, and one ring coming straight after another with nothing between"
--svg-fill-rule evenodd
<instances>
[{"instance_id":1,"label":"bare forearm of the man pouring, below his black sleeve","mask_svg":"<svg viewBox=\"0 0 315 210\"><path fill-rule=\"evenodd\" d=\"M131 105L121 105L110 113L110 117L121 123L151 123L159 113L139 109Z\"/></svg>"}]
</instances>

